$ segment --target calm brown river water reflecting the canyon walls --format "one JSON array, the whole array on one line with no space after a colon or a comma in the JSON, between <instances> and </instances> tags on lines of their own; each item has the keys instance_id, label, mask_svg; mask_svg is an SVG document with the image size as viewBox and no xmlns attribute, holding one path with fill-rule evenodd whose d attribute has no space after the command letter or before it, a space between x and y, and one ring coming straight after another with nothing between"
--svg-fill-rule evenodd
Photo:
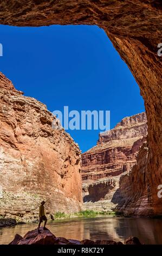
<instances>
[{"instance_id":1,"label":"calm brown river water reflecting the canyon walls","mask_svg":"<svg viewBox=\"0 0 162 256\"><path fill-rule=\"evenodd\" d=\"M24 235L37 224L23 224L0 229L0 243L8 244L15 234ZM96 217L50 222L47 225L55 236L67 239L124 241L137 236L145 244L162 244L162 220L151 218Z\"/></svg>"}]
</instances>

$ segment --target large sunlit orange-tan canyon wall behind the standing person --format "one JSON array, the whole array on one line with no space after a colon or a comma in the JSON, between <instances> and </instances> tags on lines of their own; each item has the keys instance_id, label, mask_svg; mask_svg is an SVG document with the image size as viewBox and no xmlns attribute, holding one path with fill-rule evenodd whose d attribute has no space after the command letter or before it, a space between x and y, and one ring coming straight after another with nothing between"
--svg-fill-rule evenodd
<instances>
[{"instance_id":1,"label":"large sunlit orange-tan canyon wall behind the standing person","mask_svg":"<svg viewBox=\"0 0 162 256\"><path fill-rule=\"evenodd\" d=\"M81 209L80 149L46 105L25 97L0 72L0 215L34 221Z\"/></svg>"}]
</instances>

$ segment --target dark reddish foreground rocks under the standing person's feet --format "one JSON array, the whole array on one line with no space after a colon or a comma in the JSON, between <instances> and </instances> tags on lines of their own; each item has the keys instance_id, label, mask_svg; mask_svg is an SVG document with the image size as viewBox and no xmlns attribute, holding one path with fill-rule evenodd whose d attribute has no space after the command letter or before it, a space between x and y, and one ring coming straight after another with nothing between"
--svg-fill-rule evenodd
<instances>
[{"instance_id":1,"label":"dark reddish foreground rocks under the standing person's feet","mask_svg":"<svg viewBox=\"0 0 162 256\"><path fill-rule=\"evenodd\" d=\"M28 231L27 234L22 237L16 234L13 241L9 245L142 245L139 239L135 236L131 236L125 240L124 243L116 242L113 240L74 240L66 239L64 237L56 237L49 229L44 230L40 228L41 233L38 233L38 229Z\"/></svg>"}]
</instances>

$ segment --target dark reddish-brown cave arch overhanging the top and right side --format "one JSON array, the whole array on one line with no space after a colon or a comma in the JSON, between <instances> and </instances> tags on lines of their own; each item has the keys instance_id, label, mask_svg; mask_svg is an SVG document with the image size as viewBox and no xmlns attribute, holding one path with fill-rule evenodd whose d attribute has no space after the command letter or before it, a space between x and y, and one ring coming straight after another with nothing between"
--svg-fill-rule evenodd
<instances>
[{"instance_id":1,"label":"dark reddish-brown cave arch overhanging the top and right side","mask_svg":"<svg viewBox=\"0 0 162 256\"><path fill-rule=\"evenodd\" d=\"M134 206L147 214L161 215L157 187L162 182L162 7L160 0L4 0L0 3L0 23L10 26L98 25L105 30L126 62L145 101L148 121L148 152L145 169L137 168L138 184L130 184ZM139 159L140 162L140 159ZM135 172L135 171L134 171ZM145 215L145 211L137 210Z\"/></svg>"}]
</instances>

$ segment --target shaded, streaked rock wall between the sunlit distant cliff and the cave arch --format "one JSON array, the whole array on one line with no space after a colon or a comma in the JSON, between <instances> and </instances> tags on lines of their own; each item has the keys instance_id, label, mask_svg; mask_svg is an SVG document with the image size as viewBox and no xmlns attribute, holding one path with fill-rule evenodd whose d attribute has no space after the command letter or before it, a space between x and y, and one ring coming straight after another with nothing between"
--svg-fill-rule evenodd
<instances>
[{"instance_id":1,"label":"shaded, streaked rock wall between the sunlit distant cliff and the cave arch","mask_svg":"<svg viewBox=\"0 0 162 256\"><path fill-rule=\"evenodd\" d=\"M137 156L137 164L131 172L127 172L120 178L118 189L120 201L116 198L114 201L118 203L116 209L124 212L125 216L152 216L154 214L150 207L151 189L146 186L147 157L148 144L145 142Z\"/></svg>"}]
</instances>

